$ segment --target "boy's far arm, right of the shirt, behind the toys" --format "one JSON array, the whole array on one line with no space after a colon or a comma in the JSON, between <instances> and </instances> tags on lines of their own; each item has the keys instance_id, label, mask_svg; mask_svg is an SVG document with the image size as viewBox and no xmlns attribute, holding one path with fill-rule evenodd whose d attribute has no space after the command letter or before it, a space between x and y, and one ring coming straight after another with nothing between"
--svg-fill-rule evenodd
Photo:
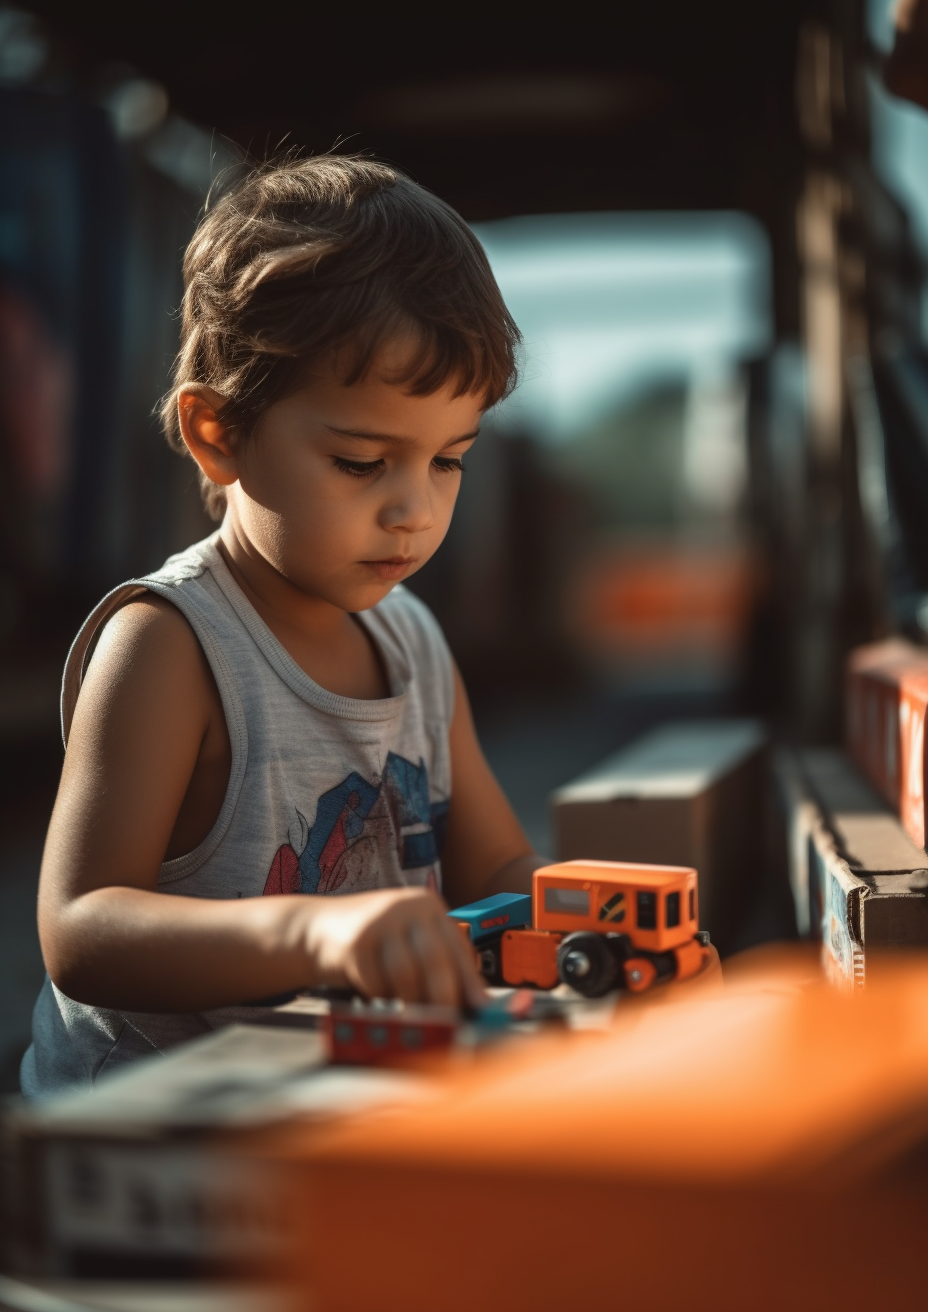
<instances>
[{"instance_id":1,"label":"boy's far arm, right of the shirt, behind the toys","mask_svg":"<svg viewBox=\"0 0 928 1312\"><path fill-rule=\"evenodd\" d=\"M532 872L547 865L532 850L480 749L467 691L454 668L450 729L452 807L441 855L449 907L500 892L532 892Z\"/></svg>"}]
</instances>

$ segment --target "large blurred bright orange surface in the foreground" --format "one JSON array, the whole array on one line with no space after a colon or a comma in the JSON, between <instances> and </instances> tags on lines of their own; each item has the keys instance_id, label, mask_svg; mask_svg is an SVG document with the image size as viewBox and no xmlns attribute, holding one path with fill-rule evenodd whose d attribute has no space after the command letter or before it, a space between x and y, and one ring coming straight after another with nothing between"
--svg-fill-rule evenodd
<instances>
[{"instance_id":1,"label":"large blurred bright orange surface in the foreground","mask_svg":"<svg viewBox=\"0 0 928 1312\"><path fill-rule=\"evenodd\" d=\"M291 1128L307 1308L912 1303L928 963L851 996L810 974L765 954L606 1033L500 1050L413 1110Z\"/></svg>"}]
</instances>

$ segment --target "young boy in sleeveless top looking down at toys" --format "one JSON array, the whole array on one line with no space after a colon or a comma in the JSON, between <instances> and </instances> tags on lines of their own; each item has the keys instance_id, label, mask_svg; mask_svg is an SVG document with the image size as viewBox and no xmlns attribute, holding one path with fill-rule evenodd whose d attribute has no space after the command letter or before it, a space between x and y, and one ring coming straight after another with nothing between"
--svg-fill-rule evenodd
<instances>
[{"instance_id":1,"label":"young boy in sleeveless top looking down at toys","mask_svg":"<svg viewBox=\"0 0 928 1312\"><path fill-rule=\"evenodd\" d=\"M320 156L224 194L184 273L163 417L222 525L104 598L68 656L29 1096L301 987L478 1004L440 893L541 865L398 586L515 380L479 244L392 169Z\"/></svg>"}]
</instances>

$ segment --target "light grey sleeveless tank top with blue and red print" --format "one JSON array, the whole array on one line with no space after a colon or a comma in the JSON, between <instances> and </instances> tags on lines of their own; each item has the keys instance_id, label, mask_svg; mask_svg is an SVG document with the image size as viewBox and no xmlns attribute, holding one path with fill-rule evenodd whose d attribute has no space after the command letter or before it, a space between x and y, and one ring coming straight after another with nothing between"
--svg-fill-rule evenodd
<instances>
[{"instance_id":1,"label":"light grey sleeveless tank top with blue and red print","mask_svg":"<svg viewBox=\"0 0 928 1312\"><path fill-rule=\"evenodd\" d=\"M396 586L358 615L381 653L390 695L337 697L314 684L281 647L232 579L213 535L156 573L116 588L89 615L64 668L66 744L102 626L146 590L177 606L196 632L232 748L215 824L193 851L164 862L159 891L260 897L402 884L440 890L454 681L445 639L427 606ZM248 1018L253 1010L238 1006L181 1015L112 1012L75 1002L46 979L22 1090L38 1097L93 1082L146 1052Z\"/></svg>"}]
</instances>

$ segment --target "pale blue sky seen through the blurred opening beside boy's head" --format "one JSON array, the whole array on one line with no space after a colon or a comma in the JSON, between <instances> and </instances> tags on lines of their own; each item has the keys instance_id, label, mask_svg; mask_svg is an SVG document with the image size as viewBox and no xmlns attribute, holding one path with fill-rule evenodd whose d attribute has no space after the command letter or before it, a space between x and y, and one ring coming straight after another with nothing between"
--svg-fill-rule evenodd
<instances>
[{"instance_id":1,"label":"pale blue sky seen through the blurred opening beside boy's head","mask_svg":"<svg viewBox=\"0 0 928 1312\"><path fill-rule=\"evenodd\" d=\"M497 416L551 442L770 341L769 248L738 213L546 214L475 226L525 338Z\"/></svg>"}]
</instances>

